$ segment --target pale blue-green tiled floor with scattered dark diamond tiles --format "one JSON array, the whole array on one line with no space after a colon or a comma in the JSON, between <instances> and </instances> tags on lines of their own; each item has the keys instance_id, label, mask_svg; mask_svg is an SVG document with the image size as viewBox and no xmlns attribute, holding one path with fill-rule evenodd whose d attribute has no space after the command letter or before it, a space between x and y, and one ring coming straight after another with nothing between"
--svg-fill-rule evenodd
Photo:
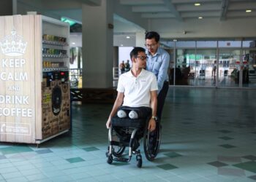
<instances>
[{"instance_id":1,"label":"pale blue-green tiled floor with scattered dark diamond tiles","mask_svg":"<svg viewBox=\"0 0 256 182\"><path fill-rule=\"evenodd\" d=\"M74 105L69 134L39 149L1 143L0 181L256 181L255 93L170 87L159 155L141 169L135 156L106 162L112 105Z\"/></svg>"}]
</instances>

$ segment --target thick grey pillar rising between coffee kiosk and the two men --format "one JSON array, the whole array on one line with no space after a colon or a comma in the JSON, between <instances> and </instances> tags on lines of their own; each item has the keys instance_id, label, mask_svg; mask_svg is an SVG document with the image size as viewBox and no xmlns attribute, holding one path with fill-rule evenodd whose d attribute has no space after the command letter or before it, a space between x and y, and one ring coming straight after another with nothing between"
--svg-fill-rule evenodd
<instances>
[{"instance_id":1,"label":"thick grey pillar rising between coffee kiosk and the two men","mask_svg":"<svg viewBox=\"0 0 256 182\"><path fill-rule=\"evenodd\" d=\"M113 1L82 5L83 87L113 87Z\"/></svg>"}]
</instances>

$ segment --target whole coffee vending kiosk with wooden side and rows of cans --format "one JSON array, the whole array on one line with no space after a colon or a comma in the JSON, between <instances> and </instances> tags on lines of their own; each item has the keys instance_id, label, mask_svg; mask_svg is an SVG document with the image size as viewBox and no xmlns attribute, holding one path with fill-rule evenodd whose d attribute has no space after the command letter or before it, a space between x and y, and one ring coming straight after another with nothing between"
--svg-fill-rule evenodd
<instances>
[{"instance_id":1,"label":"whole coffee vending kiosk with wooden side and rows of cans","mask_svg":"<svg viewBox=\"0 0 256 182\"><path fill-rule=\"evenodd\" d=\"M70 130L69 24L0 17L0 142L42 143Z\"/></svg>"}]
</instances>

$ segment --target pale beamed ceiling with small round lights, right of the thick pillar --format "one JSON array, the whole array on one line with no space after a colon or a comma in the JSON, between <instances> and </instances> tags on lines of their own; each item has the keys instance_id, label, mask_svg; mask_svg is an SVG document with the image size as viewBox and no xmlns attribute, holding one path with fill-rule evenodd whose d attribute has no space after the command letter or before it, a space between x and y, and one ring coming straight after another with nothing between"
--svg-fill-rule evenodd
<instances>
[{"instance_id":1,"label":"pale beamed ceiling with small round lights, right of the thick pillar","mask_svg":"<svg viewBox=\"0 0 256 182\"><path fill-rule=\"evenodd\" d=\"M195 6L195 3L200 4ZM132 7L145 19L176 19L184 21L203 17L229 20L240 17L256 17L255 0L120 0L120 4ZM246 13L246 9L252 12Z\"/></svg>"}]
</instances>

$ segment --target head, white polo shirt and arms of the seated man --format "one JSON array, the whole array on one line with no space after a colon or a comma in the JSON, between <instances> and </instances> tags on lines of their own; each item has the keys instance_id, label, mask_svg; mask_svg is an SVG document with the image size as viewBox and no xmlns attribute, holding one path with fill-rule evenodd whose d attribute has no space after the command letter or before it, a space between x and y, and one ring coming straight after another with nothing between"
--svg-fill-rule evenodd
<instances>
[{"instance_id":1,"label":"head, white polo shirt and arms of the seated man","mask_svg":"<svg viewBox=\"0 0 256 182\"><path fill-rule=\"evenodd\" d=\"M120 106L148 107L152 111L152 117L148 122L148 130L153 131L156 128L157 77L144 69L146 68L147 56L142 47L135 47L130 52L130 58L132 68L119 77L117 98L108 117L106 127L110 127L111 118L115 116Z\"/></svg>"}]
</instances>

